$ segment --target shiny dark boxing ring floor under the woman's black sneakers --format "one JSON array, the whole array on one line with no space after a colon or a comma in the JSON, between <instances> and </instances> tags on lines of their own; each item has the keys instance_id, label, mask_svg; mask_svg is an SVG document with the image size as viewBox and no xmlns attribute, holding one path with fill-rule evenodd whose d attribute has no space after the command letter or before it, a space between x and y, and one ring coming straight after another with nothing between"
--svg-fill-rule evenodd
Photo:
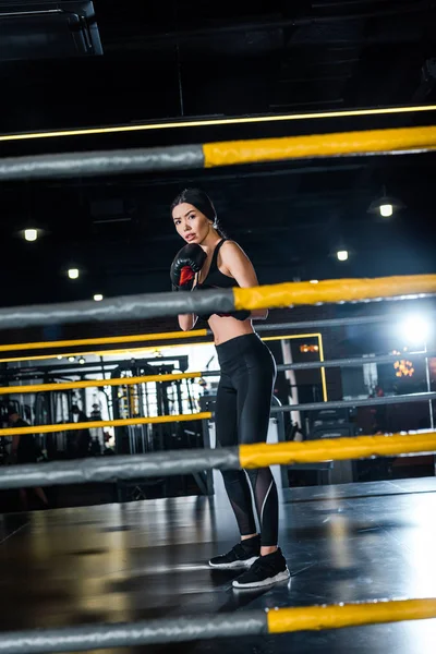
<instances>
[{"instance_id":1,"label":"shiny dark boxing ring floor under the woman's black sneakers","mask_svg":"<svg viewBox=\"0 0 436 654\"><path fill-rule=\"evenodd\" d=\"M216 480L213 497L0 517L0 629L435 594L435 477L280 491L292 577L257 591L206 565L238 538ZM100 652L433 654L435 640L420 620Z\"/></svg>"}]
</instances>

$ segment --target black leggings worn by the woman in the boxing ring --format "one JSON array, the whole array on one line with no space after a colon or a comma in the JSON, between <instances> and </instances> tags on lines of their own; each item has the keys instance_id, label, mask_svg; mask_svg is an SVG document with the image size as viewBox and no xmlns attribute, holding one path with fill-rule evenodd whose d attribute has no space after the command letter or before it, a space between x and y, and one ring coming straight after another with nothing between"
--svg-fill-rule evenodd
<instances>
[{"instance_id":1,"label":"black leggings worn by the woman in the boxing ring","mask_svg":"<svg viewBox=\"0 0 436 654\"><path fill-rule=\"evenodd\" d=\"M215 409L217 445L266 443L276 363L256 334L217 346L221 378ZM226 491L242 536L257 533L250 479L261 525L261 543L277 545L278 497L269 468L226 470Z\"/></svg>"}]
</instances>

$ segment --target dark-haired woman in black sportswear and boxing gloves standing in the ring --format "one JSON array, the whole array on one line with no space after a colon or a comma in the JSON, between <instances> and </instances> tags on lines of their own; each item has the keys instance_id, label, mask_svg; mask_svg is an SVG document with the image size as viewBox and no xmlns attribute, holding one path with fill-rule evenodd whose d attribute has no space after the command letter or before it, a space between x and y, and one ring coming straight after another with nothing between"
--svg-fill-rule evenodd
<instances>
[{"instance_id":1,"label":"dark-haired woman in black sportswear and boxing gloves standing in the ring","mask_svg":"<svg viewBox=\"0 0 436 654\"><path fill-rule=\"evenodd\" d=\"M172 203L172 219L186 241L171 266L178 290L257 286L254 268L241 247L222 238L209 197L186 189ZM268 348L254 332L252 319L264 319L267 311L234 312L199 316L214 334L221 377L217 391L215 424L217 445L265 443L267 439L276 364ZM195 326L196 315L179 316L181 329ZM241 542L228 554L210 559L219 569L246 571L233 581L235 588L258 588L289 578L277 545L278 496L269 468L222 472L226 491L241 533ZM253 488L261 534L256 530Z\"/></svg>"}]
</instances>

